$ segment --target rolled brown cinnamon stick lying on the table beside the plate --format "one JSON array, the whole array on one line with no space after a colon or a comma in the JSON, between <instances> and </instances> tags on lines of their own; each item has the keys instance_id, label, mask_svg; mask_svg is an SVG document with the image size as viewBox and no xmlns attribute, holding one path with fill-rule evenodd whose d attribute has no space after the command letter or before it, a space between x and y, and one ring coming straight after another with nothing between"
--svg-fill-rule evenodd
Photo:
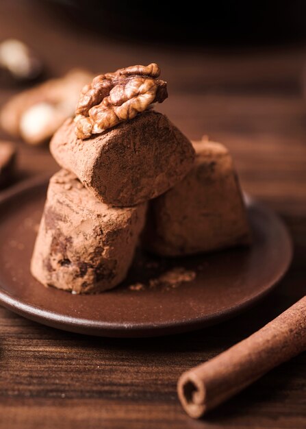
<instances>
[{"instance_id":1,"label":"rolled brown cinnamon stick lying on the table beside the plate","mask_svg":"<svg viewBox=\"0 0 306 429\"><path fill-rule=\"evenodd\" d=\"M190 417L199 418L305 350L306 296L255 334L183 373L179 400Z\"/></svg>"}]
</instances>

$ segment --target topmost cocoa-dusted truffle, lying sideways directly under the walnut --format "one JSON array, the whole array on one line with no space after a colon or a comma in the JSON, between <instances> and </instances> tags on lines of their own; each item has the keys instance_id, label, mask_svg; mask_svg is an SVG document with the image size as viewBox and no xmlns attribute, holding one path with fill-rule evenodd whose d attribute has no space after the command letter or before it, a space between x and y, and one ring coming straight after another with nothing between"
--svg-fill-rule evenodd
<instances>
[{"instance_id":1,"label":"topmost cocoa-dusted truffle, lying sideways directly under the walnut","mask_svg":"<svg viewBox=\"0 0 306 429\"><path fill-rule=\"evenodd\" d=\"M51 140L51 153L101 201L123 207L168 191L194 162L188 138L153 110L86 140L67 120Z\"/></svg>"}]
</instances>

